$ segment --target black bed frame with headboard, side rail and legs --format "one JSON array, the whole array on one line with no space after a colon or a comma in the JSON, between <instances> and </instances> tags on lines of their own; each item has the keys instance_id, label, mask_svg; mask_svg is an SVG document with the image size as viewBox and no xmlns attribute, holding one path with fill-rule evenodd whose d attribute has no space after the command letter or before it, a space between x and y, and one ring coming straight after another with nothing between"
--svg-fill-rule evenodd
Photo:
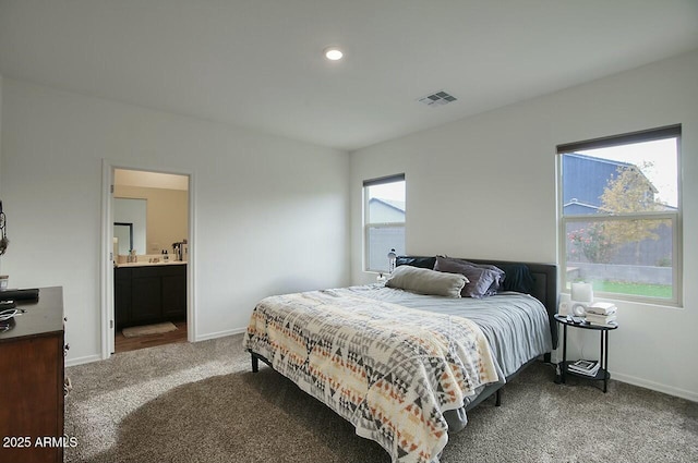
<instances>
[{"instance_id":1,"label":"black bed frame with headboard, side rail and legs","mask_svg":"<svg viewBox=\"0 0 698 463\"><path fill-rule=\"evenodd\" d=\"M426 258L421 256L409 256L409 257ZM534 281L534 287L531 290L531 295L537 300L539 300L540 302L542 302L543 305L545 306L545 310L547 312L551 338L553 341L553 349L557 348L558 333L557 333L557 324L555 322L555 317L554 317L555 314L557 313L557 294L558 294L556 265L538 264L538 263L515 263L509 260L483 260L483 259L464 259L464 260L468 260L473 264L491 264L491 265L503 266L503 267L508 264L525 264L526 266L528 266ZM260 361L267 364L270 368L274 368L272 366L272 363L268 360L266 360L263 355L252 352L252 350L250 349L248 349L248 352L250 352L250 355L252 356L253 373L257 373L260 370ZM506 382L509 382L512 378L516 377L527 366L534 363L535 361L537 358L532 358L528 363L524 364L518 370L507 376ZM550 352L544 354L543 362L545 363L551 362ZM470 402L466 406L466 412L473 409L474 406L480 404L482 401L484 401L485 399L489 399L492 395L495 397L495 405L500 406L502 404L502 387L505 385L506 383L501 385L496 389L492 388L490 390L483 391L480 395L478 395L472 402Z\"/></svg>"}]
</instances>

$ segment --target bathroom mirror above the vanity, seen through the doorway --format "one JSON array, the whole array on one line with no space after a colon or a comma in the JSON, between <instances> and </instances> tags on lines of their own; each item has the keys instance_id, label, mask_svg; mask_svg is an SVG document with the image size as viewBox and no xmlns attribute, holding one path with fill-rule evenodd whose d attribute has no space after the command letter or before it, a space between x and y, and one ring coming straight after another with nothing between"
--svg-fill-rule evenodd
<instances>
[{"instance_id":1,"label":"bathroom mirror above the vanity, seen through the doorway","mask_svg":"<svg viewBox=\"0 0 698 463\"><path fill-rule=\"evenodd\" d=\"M147 254L145 247L147 199L113 198L113 237L118 253Z\"/></svg>"}]
</instances>

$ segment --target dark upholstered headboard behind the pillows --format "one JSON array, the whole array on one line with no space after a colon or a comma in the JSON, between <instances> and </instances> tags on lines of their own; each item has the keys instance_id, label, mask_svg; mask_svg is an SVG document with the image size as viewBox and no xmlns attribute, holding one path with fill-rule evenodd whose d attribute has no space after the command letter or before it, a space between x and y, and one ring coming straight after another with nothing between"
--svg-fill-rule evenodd
<instances>
[{"instance_id":1,"label":"dark upholstered headboard behind the pillows","mask_svg":"<svg viewBox=\"0 0 698 463\"><path fill-rule=\"evenodd\" d=\"M553 349L557 348L557 322L554 315L557 313L557 266L555 264L539 264L539 263L516 263L512 260L485 260L485 259L469 259L465 257L457 257L458 259L469 260L473 264L492 264L497 267L507 267L514 264L525 264L531 271L533 277L533 288L531 289L531 295L543 303L547 310L547 318L550 322L550 332L553 340ZM398 265L414 265L417 267L433 268L435 257L431 256L400 256L398 257Z\"/></svg>"}]
</instances>

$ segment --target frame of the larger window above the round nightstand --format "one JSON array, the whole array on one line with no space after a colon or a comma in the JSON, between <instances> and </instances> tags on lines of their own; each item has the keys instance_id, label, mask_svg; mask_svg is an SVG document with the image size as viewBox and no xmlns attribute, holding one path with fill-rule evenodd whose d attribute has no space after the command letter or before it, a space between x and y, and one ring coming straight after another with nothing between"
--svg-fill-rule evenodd
<instances>
[{"instance_id":1,"label":"frame of the larger window above the round nightstand","mask_svg":"<svg viewBox=\"0 0 698 463\"><path fill-rule=\"evenodd\" d=\"M563 179L563 155L571 154L580 150L594 148L606 148L613 146L630 145L635 143L652 142L665 138L676 138L676 210L675 211L641 211L641 212L622 212L622 214L564 214L564 179ZM594 290L594 293L611 300L627 301L635 303L646 303L659 306L682 307L683 306L683 184L682 184L682 125L669 125L659 129L650 129L646 131L631 132L621 135L612 135L602 138L594 138L585 142L576 142L558 145L556 147L557 163L557 248L559 261L559 282L561 291L568 292L569 281L567 280L567 224L575 222L592 222L599 223L604 221L618 220L670 220L672 223L672 297L653 297L634 294L624 294L615 292L601 292Z\"/></svg>"}]
</instances>

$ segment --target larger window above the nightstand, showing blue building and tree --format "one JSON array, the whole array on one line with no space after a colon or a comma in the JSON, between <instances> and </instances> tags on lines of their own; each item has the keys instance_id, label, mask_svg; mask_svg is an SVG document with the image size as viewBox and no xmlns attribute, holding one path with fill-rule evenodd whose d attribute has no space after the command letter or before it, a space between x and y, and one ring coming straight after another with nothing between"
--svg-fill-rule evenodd
<instances>
[{"instance_id":1,"label":"larger window above the nightstand, showing blue building and tree","mask_svg":"<svg viewBox=\"0 0 698 463\"><path fill-rule=\"evenodd\" d=\"M557 147L563 285L681 304L681 125Z\"/></svg>"}]
</instances>

